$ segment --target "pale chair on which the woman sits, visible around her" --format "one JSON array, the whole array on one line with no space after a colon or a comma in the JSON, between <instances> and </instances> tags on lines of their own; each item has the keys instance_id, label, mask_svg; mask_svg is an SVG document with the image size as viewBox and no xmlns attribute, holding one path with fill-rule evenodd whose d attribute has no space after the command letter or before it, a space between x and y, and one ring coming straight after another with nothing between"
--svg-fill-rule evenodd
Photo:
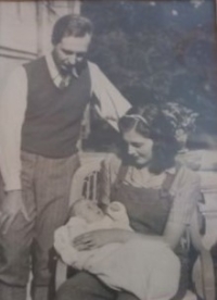
<instances>
[{"instance_id":1,"label":"pale chair on which the woman sits, visible around her","mask_svg":"<svg viewBox=\"0 0 217 300\"><path fill-rule=\"evenodd\" d=\"M98 179L99 171L102 159L92 160L89 163L85 163L75 174L72 183L69 203L85 196L92 201L97 201L98 197ZM204 300L215 300L215 276L214 265L210 253L204 248L202 237L200 234L199 218L195 214L192 217L192 223L189 230L189 237L195 250L199 252L201 266L200 276L202 277L202 289ZM58 261L55 273L55 289L58 289L67 277L67 266L61 261ZM200 291L201 293L201 291ZM191 290L188 290L183 300L196 300L197 296Z\"/></svg>"}]
</instances>

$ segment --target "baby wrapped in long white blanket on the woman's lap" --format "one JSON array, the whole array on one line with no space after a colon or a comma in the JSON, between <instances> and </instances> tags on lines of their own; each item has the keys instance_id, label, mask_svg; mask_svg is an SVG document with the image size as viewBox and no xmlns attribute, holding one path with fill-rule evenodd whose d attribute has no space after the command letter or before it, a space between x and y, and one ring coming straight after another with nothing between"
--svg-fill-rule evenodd
<instances>
[{"instance_id":1,"label":"baby wrapped in long white blanket on the woman's lap","mask_svg":"<svg viewBox=\"0 0 217 300\"><path fill-rule=\"evenodd\" d=\"M129 291L139 299L149 295L149 299L164 300L165 297L167 300L176 293L180 262L163 241L135 238L92 250L78 251L74 248L75 237L87 232L107 228L132 230L120 202L110 203L104 213L97 203L80 199L74 203L72 212L74 216L54 234L54 247L66 264L86 270L112 289ZM161 285L165 282L165 274L167 285Z\"/></svg>"}]
</instances>

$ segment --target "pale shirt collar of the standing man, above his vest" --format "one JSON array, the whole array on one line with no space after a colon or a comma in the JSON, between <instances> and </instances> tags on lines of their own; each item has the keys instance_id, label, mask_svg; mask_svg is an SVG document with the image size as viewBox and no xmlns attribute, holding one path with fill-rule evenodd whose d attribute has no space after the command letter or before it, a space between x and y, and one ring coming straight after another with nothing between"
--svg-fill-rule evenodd
<instances>
[{"instance_id":1,"label":"pale shirt collar of the standing man, above his vest","mask_svg":"<svg viewBox=\"0 0 217 300\"><path fill-rule=\"evenodd\" d=\"M51 79L53 80L54 85L60 88L64 77L60 74L54 61L53 61L53 57L52 53L48 53L46 55L46 62L48 65L48 70L51 76ZM78 74L76 72L76 70L74 70L73 75L77 78Z\"/></svg>"}]
</instances>

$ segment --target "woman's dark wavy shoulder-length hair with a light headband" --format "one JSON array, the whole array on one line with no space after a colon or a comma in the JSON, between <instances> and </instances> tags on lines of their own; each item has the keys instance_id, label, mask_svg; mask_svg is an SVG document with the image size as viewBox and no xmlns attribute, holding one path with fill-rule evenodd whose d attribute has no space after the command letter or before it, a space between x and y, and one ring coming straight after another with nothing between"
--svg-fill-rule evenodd
<instances>
[{"instance_id":1,"label":"woman's dark wavy shoulder-length hair with a light headband","mask_svg":"<svg viewBox=\"0 0 217 300\"><path fill-rule=\"evenodd\" d=\"M176 128L161 105L133 107L119 120L118 126L122 134L135 130L153 140L150 172L159 174L175 165L179 150Z\"/></svg>"}]
</instances>

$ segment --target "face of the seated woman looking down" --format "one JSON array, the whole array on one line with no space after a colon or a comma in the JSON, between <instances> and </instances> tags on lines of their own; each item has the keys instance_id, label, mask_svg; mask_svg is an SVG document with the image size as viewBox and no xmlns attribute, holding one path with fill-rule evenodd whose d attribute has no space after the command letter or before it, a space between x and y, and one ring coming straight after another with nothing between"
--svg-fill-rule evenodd
<instances>
[{"instance_id":1,"label":"face of the seated woman looking down","mask_svg":"<svg viewBox=\"0 0 217 300\"><path fill-rule=\"evenodd\" d=\"M148 164L152 159L153 140L143 137L133 129L123 134L128 146L128 154L139 166Z\"/></svg>"}]
</instances>

